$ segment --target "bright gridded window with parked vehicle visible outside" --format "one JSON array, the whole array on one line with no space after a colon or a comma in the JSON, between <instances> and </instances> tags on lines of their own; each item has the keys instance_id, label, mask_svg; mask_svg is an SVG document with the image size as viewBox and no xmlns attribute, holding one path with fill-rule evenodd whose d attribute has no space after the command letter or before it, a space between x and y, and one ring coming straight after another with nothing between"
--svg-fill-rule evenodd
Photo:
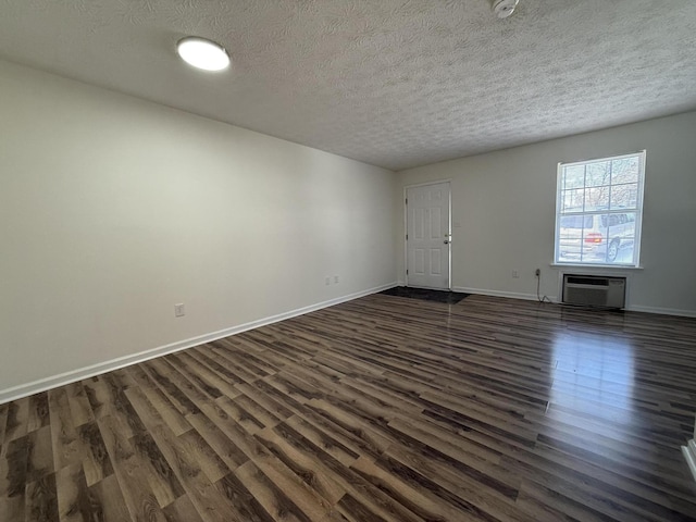
<instances>
[{"instance_id":1,"label":"bright gridded window with parked vehicle visible outside","mask_svg":"<svg viewBox=\"0 0 696 522\"><path fill-rule=\"evenodd\" d=\"M558 164L556 263L637 266L645 151Z\"/></svg>"}]
</instances>

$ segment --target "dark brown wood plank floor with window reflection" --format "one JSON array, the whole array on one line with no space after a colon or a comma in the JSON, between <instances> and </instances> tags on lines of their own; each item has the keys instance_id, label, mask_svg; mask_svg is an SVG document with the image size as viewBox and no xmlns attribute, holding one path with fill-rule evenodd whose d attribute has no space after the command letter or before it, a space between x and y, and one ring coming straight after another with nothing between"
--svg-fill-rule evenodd
<instances>
[{"instance_id":1,"label":"dark brown wood plank floor with window reflection","mask_svg":"<svg viewBox=\"0 0 696 522\"><path fill-rule=\"evenodd\" d=\"M696 520L695 343L370 296L0 406L0 520Z\"/></svg>"}]
</instances>

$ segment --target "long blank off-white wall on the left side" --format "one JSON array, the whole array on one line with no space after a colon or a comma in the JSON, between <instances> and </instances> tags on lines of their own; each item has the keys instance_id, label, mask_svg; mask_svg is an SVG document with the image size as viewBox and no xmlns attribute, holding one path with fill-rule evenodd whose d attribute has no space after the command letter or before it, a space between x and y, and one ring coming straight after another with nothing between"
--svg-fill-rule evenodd
<instances>
[{"instance_id":1,"label":"long blank off-white wall on the left side","mask_svg":"<svg viewBox=\"0 0 696 522\"><path fill-rule=\"evenodd\" d=\"M0 401L396 281L389 171L8 62L0 114Z\"/></svg>"}]
</instances>

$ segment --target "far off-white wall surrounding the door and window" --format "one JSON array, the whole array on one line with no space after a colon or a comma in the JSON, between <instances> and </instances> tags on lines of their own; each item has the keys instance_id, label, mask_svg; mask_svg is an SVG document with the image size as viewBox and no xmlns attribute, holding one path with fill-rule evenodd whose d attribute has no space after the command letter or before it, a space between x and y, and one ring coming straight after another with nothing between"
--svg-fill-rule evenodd
<instances>
[{"instance_id":1,"label":"far off-white wall surrounding the door and window","mask_svg":"<svg viewBox=\"0 0 696 522\"><path fill-rule=\"evenodd\" d=\"M558 162L646 149L644 270L612 273L629 274L627 308L696 315L695 137L691 112L403 171L397 191L401 198L405 186L452 181L455 287L535 298L538 266L542 294L556 299L560 271L550 263ZM402 203L397 219L402 279ZM520 271L519 279L512 270Z\"/></svg>"}]
</instances>

